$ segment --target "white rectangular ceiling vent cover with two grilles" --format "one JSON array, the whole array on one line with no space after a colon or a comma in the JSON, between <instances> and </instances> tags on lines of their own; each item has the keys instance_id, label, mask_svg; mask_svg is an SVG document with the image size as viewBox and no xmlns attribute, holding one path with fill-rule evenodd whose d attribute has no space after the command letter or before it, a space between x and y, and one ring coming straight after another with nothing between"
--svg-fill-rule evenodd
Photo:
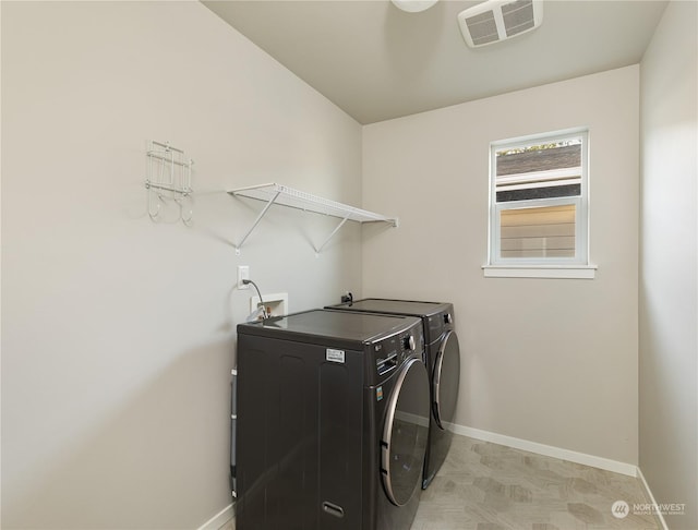
<instances>
[{"instance_id":1,"label":"white rectangular ceiling vent cover with two grilles","mask_svg":"<svg viewBox=\"0 0 698 530\"><path fill-rule=\"evenodd\" d=\"M525 34L542 22L542 0L488 0L458 13L460 32L471 48Z\"/></svg>"}]
</instances>

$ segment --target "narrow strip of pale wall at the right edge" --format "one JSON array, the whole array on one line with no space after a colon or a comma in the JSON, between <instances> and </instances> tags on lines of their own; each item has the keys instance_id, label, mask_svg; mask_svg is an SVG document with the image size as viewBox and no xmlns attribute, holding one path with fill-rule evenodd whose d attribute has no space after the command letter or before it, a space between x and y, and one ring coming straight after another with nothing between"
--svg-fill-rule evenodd
<instances>
[{"instance_id":1,"label":"narrow strip of pale wall at the right edge","mask_svg":"<svg viewBox=\"0 0 698 530\"><path fill-rule=\"evenodd\" d=\"M698 4L670 2L641 63L640 469L698 528Z\"/></svg>"}]
</instances>

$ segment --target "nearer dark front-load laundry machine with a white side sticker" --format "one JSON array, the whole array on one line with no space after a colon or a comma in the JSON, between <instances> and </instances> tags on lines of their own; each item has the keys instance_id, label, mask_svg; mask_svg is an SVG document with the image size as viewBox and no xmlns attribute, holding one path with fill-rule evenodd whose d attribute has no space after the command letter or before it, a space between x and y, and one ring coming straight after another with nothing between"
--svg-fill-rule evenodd
<instances>
[{"instance_id":1,"label":"nearer dark front-load laundry machine with a white side sticker","mask_svg":"<svg viewBox=\"0 0 698 530\"><path fill-rule=\"evenodd\" d=\"M404 530L430 389L419 318L313 310L238 326L237 530Z\"/></svg>"}]
</instances>

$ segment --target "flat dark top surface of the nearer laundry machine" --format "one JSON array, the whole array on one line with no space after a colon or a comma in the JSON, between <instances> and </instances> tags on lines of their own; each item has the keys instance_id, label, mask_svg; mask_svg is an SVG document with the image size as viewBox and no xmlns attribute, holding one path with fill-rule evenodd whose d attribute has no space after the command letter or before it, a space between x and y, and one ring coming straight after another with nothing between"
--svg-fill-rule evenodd
<instances>
[{"instance_id":1,"label":"flat dark top surface of the nearer laundry machine","mask_svg":"<svg viewBox=\"0 0 698 530\"><path fill-rule=\"evenodd\" d=\"M238 325L238 334L279 336L310 344L365 344L398 334L414 325L416 317L348 311L313 310Z\"/></svg>"}]
</instances>

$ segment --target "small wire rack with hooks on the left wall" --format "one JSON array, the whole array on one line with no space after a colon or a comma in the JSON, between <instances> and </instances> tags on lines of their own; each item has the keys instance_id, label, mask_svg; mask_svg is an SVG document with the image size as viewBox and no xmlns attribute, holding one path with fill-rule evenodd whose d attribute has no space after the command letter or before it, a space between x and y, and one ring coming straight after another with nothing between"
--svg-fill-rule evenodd
<instances>
[{"instance_id":1,"label":"small wire rack with hooks on the left wall","mask_svg":"<svg viewBox=\"0 0 698 530\"><path fill-rule=\"evenodd\" d=\"M148 144L147 177L145 188L148 194L148 215L154 221L159 220L160 206L174 202L179 207L179 219L184 225L192 222L192 165L182 149L172 147L169 142Z\"/></svg>"}]
</instances>

